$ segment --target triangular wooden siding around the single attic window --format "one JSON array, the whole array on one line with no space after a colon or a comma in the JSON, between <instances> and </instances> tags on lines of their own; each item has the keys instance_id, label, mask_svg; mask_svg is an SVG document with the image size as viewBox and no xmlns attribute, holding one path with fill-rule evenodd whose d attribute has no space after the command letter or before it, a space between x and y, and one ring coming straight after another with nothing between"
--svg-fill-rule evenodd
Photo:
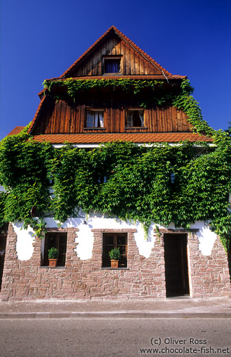
<instances>
[{"instance_id":1,"label":"triangular wooden siding around the single attic window","mask_svg":"<svg viewBox=\"0 0 231 357\"><path fill-rule=\"evenodd\" d=\"M162 74L125 41L121 41L118 37L108 36L104 43L97 47L97 50L80 62L80 66L71 73L71 76L102 76L104 56L121 56L121 74L123 75Z\"/></svg>"}]
</instances>

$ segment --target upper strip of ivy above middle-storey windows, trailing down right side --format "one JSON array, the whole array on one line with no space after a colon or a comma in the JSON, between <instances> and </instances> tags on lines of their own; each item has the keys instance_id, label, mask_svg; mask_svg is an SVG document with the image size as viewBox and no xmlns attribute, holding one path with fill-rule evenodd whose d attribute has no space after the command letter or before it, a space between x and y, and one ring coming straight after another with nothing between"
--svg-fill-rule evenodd
<instances>
[{"instance_id":1,"label":"upper strip of ivy above middle-storey windows, trailing down right side","mask_svg":"<svg viewBox=\"0 0 231 357\"><path fill-rule=\"evenodd\" d=\"M143 108L165 105L175 106L187 114L195 132L208 136L215 135L215 130L210 128L206 120L203 119L199 103L192 95L193 87L191 87L189 80L186 79L182 80L180 86L177 83L172 84L170 89L165 88L164 84L166 83L164 80L130 80L127 78L119 78L117 80L68 78L66 80L45 80L43 84L50 95L55 87L66 87L67 94L74 101L80 91L89 91L90 89L109 88L114 91L119 88L121 91L132 93L133 95L142 93L146 89L148 92L145 100L139 102L139 105ZM56 100L62 97L57 94L53 95Z\"/></svg>"}]
</instances>

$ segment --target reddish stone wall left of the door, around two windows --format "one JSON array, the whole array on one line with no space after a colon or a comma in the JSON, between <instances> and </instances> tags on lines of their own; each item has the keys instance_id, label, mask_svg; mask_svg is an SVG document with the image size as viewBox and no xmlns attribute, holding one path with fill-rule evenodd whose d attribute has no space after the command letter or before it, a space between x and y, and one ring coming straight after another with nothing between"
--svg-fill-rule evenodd
<instances>
[{"instance_id":1,"label":"reddish stone wall left of the door, around two windows","mask_svg":"<svg viewBox=\"0 0 231 357\"><path fill-rule=\"evenodd\" d=\"M51 229L67 232L66 265L40 266L41 240L36 238L34 253L27 261L16 256L16 233L9 226L1 299L128 299L165 297L163 243L156 244L149 258L142 257L134 240L136 229L93 229L93 256L80 260L74 249L76 228ZM102 234L127 233L127 268L101 268Z\"/></svg>"}]
</instances>

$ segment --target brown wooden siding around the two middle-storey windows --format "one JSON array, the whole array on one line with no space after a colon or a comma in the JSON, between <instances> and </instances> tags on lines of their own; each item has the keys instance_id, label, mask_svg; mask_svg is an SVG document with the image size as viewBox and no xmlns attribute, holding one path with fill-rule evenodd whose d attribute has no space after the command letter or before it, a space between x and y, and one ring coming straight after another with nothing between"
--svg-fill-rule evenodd
<instances>
[{"instance_id":1,"label":"brown wooden siding around the two middle-storey windows","mask_svg":"<svg viewBox=\"0 0 231 357\"><path fill-rule=\"evenodd\" d=\"M125 128L127 107L105 106L104 128L86 128L86 104L73 105L64 100L54 102L51 99L40 113L33 134L58 133L179 133L190 132L191 124L187 116L175 107L145 109L145 126ZM97 108L97 107L92 107ZM99 106L98 108L102 108Z\"/></svg>"}]
</instances>

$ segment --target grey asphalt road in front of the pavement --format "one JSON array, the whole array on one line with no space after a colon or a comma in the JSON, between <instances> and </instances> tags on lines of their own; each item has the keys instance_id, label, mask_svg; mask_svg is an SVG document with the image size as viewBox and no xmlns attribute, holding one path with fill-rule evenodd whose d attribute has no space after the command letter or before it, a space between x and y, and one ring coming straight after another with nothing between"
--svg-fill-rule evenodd
<instances>
[{"instance_id":1,"label":"grey asphalt road in front of the pavement","mask_svg":"<svg viewBox=\"0 0 231 357\"><path fill-rule=\"evenodd\" d=\"M5 319L0 356L225 357L230 336L231 319Z\"/></svg>"}]
</instances>

